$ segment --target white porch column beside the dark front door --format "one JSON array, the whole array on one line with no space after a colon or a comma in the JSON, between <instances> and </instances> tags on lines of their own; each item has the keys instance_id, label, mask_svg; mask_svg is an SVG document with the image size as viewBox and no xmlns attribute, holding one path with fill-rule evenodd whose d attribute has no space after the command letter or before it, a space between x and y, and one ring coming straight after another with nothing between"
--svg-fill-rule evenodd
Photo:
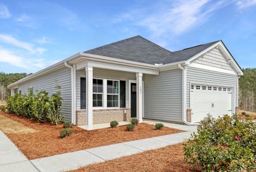
<instances>
[{"instance_id":1,"label":"white porch column beside the dark front door","mask_svg":"<svg viewBox=\"0 0 256 172\"><path fill-rule=\"evenodd\" d=\"M139 122L142 122L142 76L143 74L136 73L136 83L137 83L137 118Z\"/></svg>"}]
</instances>

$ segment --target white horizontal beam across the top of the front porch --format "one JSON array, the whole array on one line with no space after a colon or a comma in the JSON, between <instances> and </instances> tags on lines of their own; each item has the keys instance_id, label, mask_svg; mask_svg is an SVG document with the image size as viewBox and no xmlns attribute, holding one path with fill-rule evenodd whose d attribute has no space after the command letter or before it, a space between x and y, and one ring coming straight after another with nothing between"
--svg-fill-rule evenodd
<instances>
[{"instance_id":1,"label":"white horizontal beam across the top of the front porch","mask_svg":"<svg viewBox=\"0 0 256 172\"><path fill-rule=\"evenodd\" d=\"M94 68L112 69L116 71L125 71L125 72L141 72L141 73L146 73L150 75L159 75L158 69L138 68L138 67L131 67L128 65L111 64L111 63L100 62L100 61L80 62L77 64L77 69L85 68L86 64Z\"/></svg>"}]
</instances>

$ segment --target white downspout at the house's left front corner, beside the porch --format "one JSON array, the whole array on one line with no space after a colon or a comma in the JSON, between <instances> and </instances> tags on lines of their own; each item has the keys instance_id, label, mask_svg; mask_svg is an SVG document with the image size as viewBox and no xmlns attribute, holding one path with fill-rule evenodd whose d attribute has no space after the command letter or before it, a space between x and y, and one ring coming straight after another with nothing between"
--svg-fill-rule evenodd
<instances>
[{"instance_id":1,"label":"white downspout at the house's left front corner, beside the porch","mask_svg":"<svg viewBox=\"0 0 256 172\"><path fill-rule=\"evenodd\" d=\"M76 125L76 65L69 65L66 61L64 65L71 69L71 122Z\"/></svg>"}]
</instances>

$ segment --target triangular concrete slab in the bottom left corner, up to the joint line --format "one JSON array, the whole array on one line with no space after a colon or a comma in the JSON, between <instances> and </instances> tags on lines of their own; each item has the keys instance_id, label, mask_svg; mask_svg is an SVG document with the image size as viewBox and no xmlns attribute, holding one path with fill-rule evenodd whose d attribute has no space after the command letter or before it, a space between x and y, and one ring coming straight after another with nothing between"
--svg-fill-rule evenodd
<instances>
[{"instance_id":1,"label":"triangular concrete slab in the bottom left corner, up to the joint line","mask_svg":"<svg viewBox=\"0 0 256 172\"><path fill-rule=\"evenodd\" d=\"M35 166L0 130L0 171L38 172Z\"/></svg>"}]
</instances>

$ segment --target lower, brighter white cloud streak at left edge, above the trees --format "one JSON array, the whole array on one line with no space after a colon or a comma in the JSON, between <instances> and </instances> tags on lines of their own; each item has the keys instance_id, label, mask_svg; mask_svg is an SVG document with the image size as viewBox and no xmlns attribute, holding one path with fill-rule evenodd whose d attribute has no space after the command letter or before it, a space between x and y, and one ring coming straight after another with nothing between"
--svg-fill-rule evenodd
<instances>
[{"instance_id":1,"label":"lower, brighter white cloud streak at left edge, above the trees","mask_svg":"<svg viewBox=\"0 0 256 172\"><path fill-rule=\"evenodd\" d=\"M6 62L16 67L28 69L31 72L36 71L38 68L42 69L46 66L42 58L36 60L31 58L23 58L10 52L9 50L3 49L2 47L0 47L0 62Z\"/></svg>"}]
</instances>

